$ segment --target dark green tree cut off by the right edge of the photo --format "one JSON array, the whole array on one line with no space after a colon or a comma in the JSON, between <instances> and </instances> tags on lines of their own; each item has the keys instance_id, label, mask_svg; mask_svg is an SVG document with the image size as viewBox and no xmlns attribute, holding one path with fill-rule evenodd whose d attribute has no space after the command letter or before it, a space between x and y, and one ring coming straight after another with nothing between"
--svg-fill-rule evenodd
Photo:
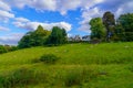
<instances>
[{"instance_id":1,"label":"dark green tree cut off by the right edge of the photo","mask_svg":"<svg viewBox=\"0 0 133 88\"><path fill-rule=\"evenodd\" d=\"M125 40L133 41L133 13L120 15L117 23L121 24L125 31Z\"/></svg>"}]
</instances>

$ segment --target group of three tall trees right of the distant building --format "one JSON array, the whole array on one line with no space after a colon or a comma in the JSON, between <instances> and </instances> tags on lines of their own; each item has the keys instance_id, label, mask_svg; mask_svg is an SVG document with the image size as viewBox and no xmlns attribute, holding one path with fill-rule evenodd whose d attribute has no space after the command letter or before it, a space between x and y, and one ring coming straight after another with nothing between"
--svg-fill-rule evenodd
<instances>
[{"instance_id":1,"label":"group of three tall trees right of the distant building","mask_svg":"<svg viewBox=\"0 0 133 88\"><path fill-rule=\"evenodd\" d=\"M91 40L100 42L131 42L133 41L133 13L121 14L116 20L113 13L105 12L102 18L93 18Z\"/></svg>"}]
</instances>

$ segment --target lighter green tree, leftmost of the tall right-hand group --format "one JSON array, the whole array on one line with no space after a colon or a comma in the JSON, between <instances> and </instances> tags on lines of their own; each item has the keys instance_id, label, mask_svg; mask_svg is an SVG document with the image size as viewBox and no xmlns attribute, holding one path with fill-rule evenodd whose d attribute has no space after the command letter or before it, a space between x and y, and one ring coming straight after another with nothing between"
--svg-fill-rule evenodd
<instances>
[{"instance_id":1,"label":"lighter green tree, leftmost of the tall right-hand group","mask_svg":"<svg viewBox=\"0 0 133 88\"><path fill-rule=\"evenodd\" d=\"M102 23L101 18L94 18L90 21L91 25L91 38L99 38L104 40L105 38L105 28Z\"/></svg>"}]
</instances>

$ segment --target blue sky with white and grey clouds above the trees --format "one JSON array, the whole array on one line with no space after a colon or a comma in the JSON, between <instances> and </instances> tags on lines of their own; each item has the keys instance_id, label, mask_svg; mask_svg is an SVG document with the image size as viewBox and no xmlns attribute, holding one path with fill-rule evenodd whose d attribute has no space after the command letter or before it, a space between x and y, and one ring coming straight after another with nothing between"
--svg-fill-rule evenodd
<instances>
[{"instance_id":1,"label":"blue sky with white and grey clouds above the trees","mask_svg":"<svg viewBox=\"0 0 133 88\"><path fill-rule=\"evenodd\" d=\"M17 44L39 24L64 28L69 35L90 34L89 21L111 11L133 12L133 0L0 0L0 44Z\"/></svg>"}]
</instances>

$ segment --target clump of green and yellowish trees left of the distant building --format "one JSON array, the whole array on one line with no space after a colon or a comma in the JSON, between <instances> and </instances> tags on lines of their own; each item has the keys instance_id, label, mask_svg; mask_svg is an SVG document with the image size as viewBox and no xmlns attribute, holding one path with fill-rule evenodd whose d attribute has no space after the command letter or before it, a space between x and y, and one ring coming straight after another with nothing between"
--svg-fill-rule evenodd
<instances>
[{"instance_id":1,"label":"clump of green and yellowish trees left of the distant building","mask_svg":"<svg viewBox=\"0 0 133 88\"><path fill-rule=\"evenodd\" d=\"M66 32L64 29L53 26L52 31L44 30L41 25L35 31L28 32L18 43L19 48L61 45L66 42Z\"/></svg>"}]
</instances>

